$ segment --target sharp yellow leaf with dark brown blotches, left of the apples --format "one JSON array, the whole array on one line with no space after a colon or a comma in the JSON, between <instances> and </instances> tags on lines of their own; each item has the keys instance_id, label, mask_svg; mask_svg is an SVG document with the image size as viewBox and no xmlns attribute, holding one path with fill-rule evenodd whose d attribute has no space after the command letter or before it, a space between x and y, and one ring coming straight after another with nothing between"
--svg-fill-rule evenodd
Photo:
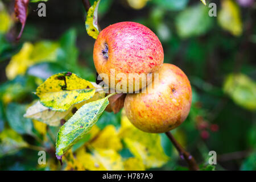
<instances>
[{"instance_id":1,"label":"sharp yellow leaf with dark brown blotches, left of the apples","mask_svg":"<svg viewBox=\"0 0 256 182\"><path fill-rule=\"evenodd\" d=\"M36 89L40 102L52 110L65 111L73 104L89 100L96 89L74 73L57 73Z\"/></svg>"}]
</instances>

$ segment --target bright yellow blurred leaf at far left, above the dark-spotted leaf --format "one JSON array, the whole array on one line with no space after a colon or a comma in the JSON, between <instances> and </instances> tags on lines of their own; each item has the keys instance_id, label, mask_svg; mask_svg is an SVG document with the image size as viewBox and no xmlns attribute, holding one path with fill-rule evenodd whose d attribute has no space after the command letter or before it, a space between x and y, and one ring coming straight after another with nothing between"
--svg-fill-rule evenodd
<instances>
[{"instance_id":1,"label":"bright yellow blurred leaf at far left, above the dark-spotted leaf","mask_svg":"<svg viewBox=\"0 0 256 182\"><path fill-rule=\"evenodd\" d=\"M22 49L11 57L10 63L6 67L6 76L9 80L13 80L17 75L24 75L27 67L32 64L29 56L33 48L31 43L26 42Z\"/></svg>"}]
</instances>

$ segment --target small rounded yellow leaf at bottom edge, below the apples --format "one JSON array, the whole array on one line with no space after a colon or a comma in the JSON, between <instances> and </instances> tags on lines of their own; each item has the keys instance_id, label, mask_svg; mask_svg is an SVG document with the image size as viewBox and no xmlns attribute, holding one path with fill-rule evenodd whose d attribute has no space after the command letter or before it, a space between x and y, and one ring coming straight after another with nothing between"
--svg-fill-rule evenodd
<instances>
[{"instance_id":1,"label":"small rounded yellow leaf at bottom edge, below the apples","mask_svg":"<svg viewBox=\"0 0 256 182\"><path fill-rule=\"evenodd\" d=\"M141 159L128 158L123 162L125 171L144 171L146 168Z\"/></svg>"}]
</instances>

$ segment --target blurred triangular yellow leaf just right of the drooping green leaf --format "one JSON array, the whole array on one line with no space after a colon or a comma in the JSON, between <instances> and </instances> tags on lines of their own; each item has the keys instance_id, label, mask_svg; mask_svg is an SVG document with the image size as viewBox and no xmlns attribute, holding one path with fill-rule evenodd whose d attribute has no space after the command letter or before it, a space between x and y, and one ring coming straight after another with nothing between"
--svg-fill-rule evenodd
<instances>
[{"instance_id":1,"label":"blurred triangular yellow leaf just right of the drooping green leaf","mask_svg":"<svg viewBox=\"0 0 256 182\"><path fill-rule=\"evenodd\" d=\"M122 149L121 140L118 138L118 133L113 125L108 125L91 143L93 148L113 149L119 151Z\"/></svg>"}]
</instances>

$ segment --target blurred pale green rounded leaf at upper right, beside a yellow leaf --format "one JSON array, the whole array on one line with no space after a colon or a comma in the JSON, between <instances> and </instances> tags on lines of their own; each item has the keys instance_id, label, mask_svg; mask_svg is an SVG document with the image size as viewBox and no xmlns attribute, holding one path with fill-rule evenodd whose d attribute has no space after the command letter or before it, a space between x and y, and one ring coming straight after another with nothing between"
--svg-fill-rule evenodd
<instances>
[{"instance_id":1,"label":"blurred pale green rounded leaf at upper right, beside a yellow leaf","mask_svg":"<svg viewBox=\"0 0 256 182\"><path fill-rule=\"evenodd\" d=\"M201 3L181 11L175 19L177 34L181 38L205 34L212 26L212 18L208 8Z\"/></svg>"}]
</instances>

